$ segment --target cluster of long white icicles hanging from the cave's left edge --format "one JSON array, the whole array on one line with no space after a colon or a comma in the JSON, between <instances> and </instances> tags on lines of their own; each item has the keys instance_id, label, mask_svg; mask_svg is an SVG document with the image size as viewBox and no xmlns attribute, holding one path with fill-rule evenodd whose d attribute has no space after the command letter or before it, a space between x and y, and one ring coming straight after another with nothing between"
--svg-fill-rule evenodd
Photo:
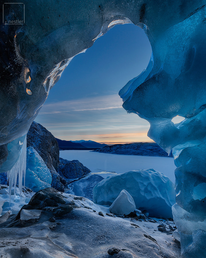
<instances>
[{"instance_id":1,"label":"cluster of long white icicles hanging from the cave's left edge","mask_svg":"<svg viewBox=\"0 0 206 258\"><path fill-rule=\"evenodd\" d=\"M22 190L22 179L24 177L24 186L25 186L25 173L26 173L26 136L23 144L19 142L21 145L21 150L19 152L19 157L17 161L13 165L13 167L7 171L7 178L9 181L9 196L11 200L11 187L14 185L14 194L16 194L16 184L17 184L17 175L19 175L19 194L21 196Z\"/></svg>"}]
</instances>

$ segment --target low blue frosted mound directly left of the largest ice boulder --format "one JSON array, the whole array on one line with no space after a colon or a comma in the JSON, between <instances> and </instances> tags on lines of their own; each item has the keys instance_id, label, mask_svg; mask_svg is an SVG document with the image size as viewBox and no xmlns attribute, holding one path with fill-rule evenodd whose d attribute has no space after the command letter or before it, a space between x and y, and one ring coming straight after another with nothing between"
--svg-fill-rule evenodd
<instances>
[{"instance_id":1,"label":"low blue frosted mound directly left of the largest ice boulder","mask_svg":"<svg viewBox=\"0 0 206 258\"><path fill-rule=\"evenodd\" d=\"M66 193L70 193L76 196L83 196L93 201L93 188L99 183L103 177L100 175L89 175L68 185L70 188Z\"/></svg>"}]
</instances>

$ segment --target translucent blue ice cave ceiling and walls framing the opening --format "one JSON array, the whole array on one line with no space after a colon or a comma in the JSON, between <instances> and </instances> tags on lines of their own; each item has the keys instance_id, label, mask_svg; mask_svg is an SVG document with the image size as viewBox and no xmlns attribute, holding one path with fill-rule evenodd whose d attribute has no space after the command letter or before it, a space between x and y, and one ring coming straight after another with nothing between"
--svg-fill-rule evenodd
<instances>
[{"instance_id":1,"label":"translucent blue ice cave ceiling and walls framing the opening","mask_svg":"<svg viewBox=\"0 0 206 258\"><path fill-rule=\"evenodd\" d=\"M168 153L173 149L181 257L206 257L205 4L25 1L25 24L1 24L1 172L15 181L17 163L25 161L25 134L70 60L116 24L134 23L153 54L119 94L125 110L150 122L148 136ZM174 124L177 115L185 120Z\"/></svg>"}]
</instances>

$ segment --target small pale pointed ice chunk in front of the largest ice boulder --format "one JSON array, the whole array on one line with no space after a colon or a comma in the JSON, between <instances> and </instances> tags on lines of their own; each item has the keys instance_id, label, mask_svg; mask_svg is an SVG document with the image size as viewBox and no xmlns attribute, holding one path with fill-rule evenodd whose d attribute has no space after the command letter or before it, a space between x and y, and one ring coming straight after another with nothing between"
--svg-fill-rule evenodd
<instances>
[{"instance_id":1,"label":"small pale pointed ice chunk in front of the largest ice boulder","mask_svg":"<svg viewBox=\"0 0 206 258\"><path fill-rule=\"evenodd\" d=\"M136 209L132 196L122 190L110 206L110 212L118 215L128 215Z\"/></svg>"}]
</instances>

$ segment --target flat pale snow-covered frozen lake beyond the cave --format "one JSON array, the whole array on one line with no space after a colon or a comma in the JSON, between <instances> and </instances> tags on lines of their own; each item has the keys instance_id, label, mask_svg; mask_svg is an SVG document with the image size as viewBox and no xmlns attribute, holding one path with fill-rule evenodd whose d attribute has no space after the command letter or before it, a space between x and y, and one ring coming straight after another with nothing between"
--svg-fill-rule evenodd
<instances>
[{"instance_id":1,"label":"flat pale snow-covered frozen lake beyond the cave","mask_svg":"<svg viewBox=\"0 0 206 258\"><path fill-rule=\"evenodd\" d=\"M170 178L175 183L175 164L173 158L118 155L98 153L90 150L60 150L60 158L77 159L95 174L102 177L124 173L130 170L153 168Z\"/></svg>"}]
</instances>

